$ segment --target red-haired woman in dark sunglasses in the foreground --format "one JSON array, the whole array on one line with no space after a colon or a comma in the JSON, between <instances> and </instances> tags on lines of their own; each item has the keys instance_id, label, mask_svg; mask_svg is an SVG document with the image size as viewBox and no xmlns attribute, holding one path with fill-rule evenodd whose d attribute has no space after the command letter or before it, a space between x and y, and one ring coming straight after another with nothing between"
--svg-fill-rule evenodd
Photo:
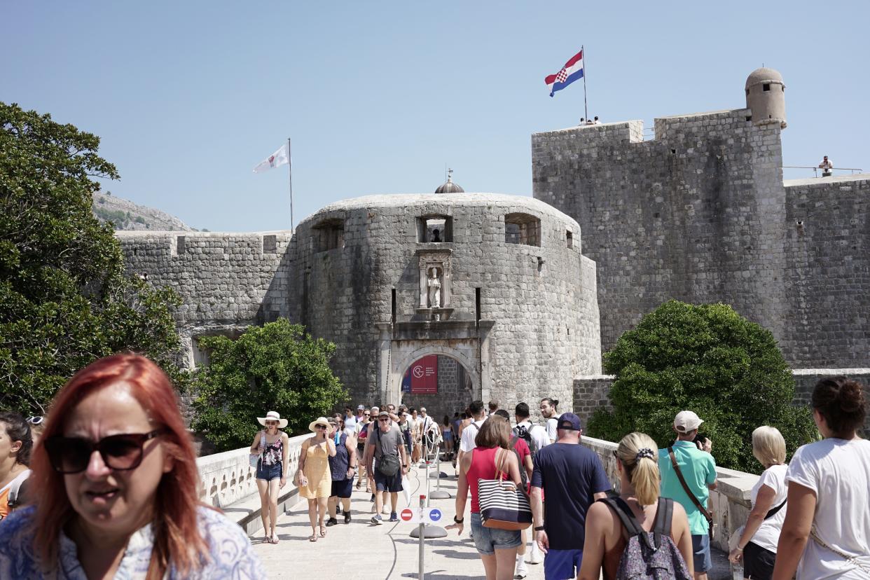
<instances>
[{"instance_id":1,"label":"red-haired woman in dark sunglasses in the foreground","mask_svg":"<svg viewBox=\"0 0 870 580\"><path fill-rule=\"evenodd\" d=\"M147 358L78 371L31 468L36 505L0 526L2 578L264 577L242 529L198 501L175 390Z\"/></svg>"}]
</instances>

